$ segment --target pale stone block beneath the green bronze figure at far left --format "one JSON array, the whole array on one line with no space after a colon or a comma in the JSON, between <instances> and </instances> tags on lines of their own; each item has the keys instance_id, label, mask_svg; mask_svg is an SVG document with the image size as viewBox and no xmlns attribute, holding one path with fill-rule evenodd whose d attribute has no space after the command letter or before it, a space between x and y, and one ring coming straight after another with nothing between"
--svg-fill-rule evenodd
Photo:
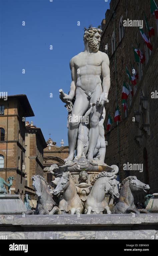
<instances>
[{"instance_id":1,"label":"pale stone block beneath the green bronze figure at far left","mask_svg":"<svg viewBox=\"0 0 158 256\"><path fill-rule=\"evenodd\" d=\"M20 195L0 195L0 214L23 214L26 210Z\"/></svg>"}]
</instances>

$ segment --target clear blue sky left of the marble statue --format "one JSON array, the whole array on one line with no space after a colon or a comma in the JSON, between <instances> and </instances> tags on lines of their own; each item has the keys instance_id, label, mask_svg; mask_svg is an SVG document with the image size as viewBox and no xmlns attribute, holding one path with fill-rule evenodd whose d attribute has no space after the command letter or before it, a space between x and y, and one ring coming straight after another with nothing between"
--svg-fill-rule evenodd
<instances>
[{"instance_id":1,"label":"clear blue sky left of the marble statue","mask_svg":"<svg viewBox=\"0 0 158 256\"><path fill-rule=\"evenodd\" d=\"M67 110L59 99L59 89L69 91L69 61L84 49L83 27L100 25L110 0L0 3L0 91L7 91L8 95L26 94L35 114L26 120L40 127L46 140L51 133L58 146L61 139L68 145Z\"/></svg>"}]
</instances>

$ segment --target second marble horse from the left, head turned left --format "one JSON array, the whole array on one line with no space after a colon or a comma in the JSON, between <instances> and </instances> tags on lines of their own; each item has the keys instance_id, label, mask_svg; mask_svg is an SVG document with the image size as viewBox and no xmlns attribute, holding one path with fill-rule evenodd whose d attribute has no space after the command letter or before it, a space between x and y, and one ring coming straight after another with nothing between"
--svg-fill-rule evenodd
<instances>
[{"instance_id":1,"label":"second marble horse from the left, head turned left","mask_svg":"<svg viewBox=\"0 0 158 256\"><path fill-rule=\"evenodd\" d=\"M54 195L59 195L63 191L63 196L59 201L59 206L54 207L49 214L78 214L82 212L83 206L76 186L71 178L70 172L64 172L56 188Z\"/></svg>"}]
</instances>

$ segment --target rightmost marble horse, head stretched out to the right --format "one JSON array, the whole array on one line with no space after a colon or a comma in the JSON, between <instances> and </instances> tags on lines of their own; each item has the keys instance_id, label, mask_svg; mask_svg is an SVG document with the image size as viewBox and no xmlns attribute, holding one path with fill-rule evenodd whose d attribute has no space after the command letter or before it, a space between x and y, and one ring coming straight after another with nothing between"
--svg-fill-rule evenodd
<instances>
[{"instance_id":1,"label":"rightmost marble horse, head stretched out to the right","mask_svg":"<svg viewBox=\"0 0 158 256\"><path fill-rule=\"evenodd\" d=\"M149 185L141 182L136 176L128 176L120 185L120 198L118 203L114 206L112 213L115 214L129 214L131 212L139 213L134 204L134 192L144 191L148 192ZM142 212L144 209L142 209Z\"/></svg>"}]
</instances>

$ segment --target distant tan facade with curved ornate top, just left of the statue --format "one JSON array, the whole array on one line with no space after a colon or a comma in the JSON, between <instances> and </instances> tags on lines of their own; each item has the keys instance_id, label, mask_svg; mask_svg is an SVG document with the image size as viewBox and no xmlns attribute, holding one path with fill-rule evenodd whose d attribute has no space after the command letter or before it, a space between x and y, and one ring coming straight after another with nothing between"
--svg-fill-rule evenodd
<instances>
[{"instance_id":1,"label":"distant tan facade with curved ornate top, just left of the statue","mask_svg":"<svg viewBox=\"0 0 158 256\"><path fill-rule=\"evenodd\" d=\"M69 155L69 147L63 146L63 140L61 142L61 147L56 146L56 142L53 142L51 138L46 141L47 147L43 151L43 166L44 166L44 178L51 184L53 180L53 175L48 171L52 164L57 164L58 166L64 165L64 159Z\"/></svg>"}]
</instances>

